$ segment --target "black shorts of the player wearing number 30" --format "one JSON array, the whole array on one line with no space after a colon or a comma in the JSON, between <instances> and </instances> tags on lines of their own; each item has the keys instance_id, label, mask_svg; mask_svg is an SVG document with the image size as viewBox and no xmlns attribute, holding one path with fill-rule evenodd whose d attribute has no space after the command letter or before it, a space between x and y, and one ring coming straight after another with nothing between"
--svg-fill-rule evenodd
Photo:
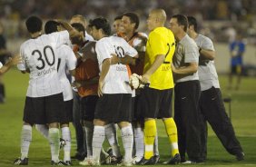
<instances>
[{"instance_id":1,"label":"black shorts of the player wearing number 30","mask_svg":"<svg viewBox=\"0 0 256 167\"><path fill-rule=\"evenodd\" d=\"M63 111L63 93L45 97L26 97L23 120L30 124L60 123Z\"/></svg>"}]
</instances>

